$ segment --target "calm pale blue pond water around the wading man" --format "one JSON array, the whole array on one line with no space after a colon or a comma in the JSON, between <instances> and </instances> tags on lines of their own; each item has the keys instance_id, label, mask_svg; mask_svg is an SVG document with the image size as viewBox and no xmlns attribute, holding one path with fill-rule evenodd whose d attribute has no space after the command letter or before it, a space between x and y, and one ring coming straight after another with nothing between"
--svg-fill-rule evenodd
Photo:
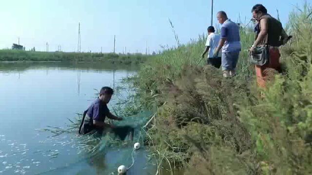
<instances>
[{"instance_id":1,"label":"calm pale blue pond water around the wading man","mask_svg":"<svg viewBox=\"0 0 312 175\"><path fill-rule=\"evenodd\" d=\"M36 129L66 128L103 86L116 87L137 68L105 64L0 63L0 175L117 175L131 147L111 147L97 158L81 154L76 133L50 137ZM121 92L123 93L123 92ZM124 92L124 96L127 96ZM113 97L110 109L117 103ZM68 119L67 119L68 118ZM120 157L122 153L128 157ZM155 175L145 149L128 175Z\"/></svg>"}]
</instances>

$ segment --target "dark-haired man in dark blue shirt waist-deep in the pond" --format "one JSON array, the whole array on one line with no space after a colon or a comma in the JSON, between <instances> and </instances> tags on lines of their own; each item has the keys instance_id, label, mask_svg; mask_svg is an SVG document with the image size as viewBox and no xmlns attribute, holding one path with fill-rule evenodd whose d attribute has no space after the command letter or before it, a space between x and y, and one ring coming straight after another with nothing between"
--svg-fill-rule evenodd
<instances>
[{"instance_id":1,"label":"dark-haired man in dark blue shirt waist-deep in the pond","mask_svg":"<svg viewBox=\"0 0 312 175\"><path fill-rule=\"evenodd\" d=\"M109 87L101 88L98 98L83 113L83 118L79 127L79 134L84 135L91 131L102 134L106 128L114 129L112 124L105 123L105 118L121 121L121 117L113 115L107 108L107 104L112 98L114 90Z\"/></svg>"}]
</instances>

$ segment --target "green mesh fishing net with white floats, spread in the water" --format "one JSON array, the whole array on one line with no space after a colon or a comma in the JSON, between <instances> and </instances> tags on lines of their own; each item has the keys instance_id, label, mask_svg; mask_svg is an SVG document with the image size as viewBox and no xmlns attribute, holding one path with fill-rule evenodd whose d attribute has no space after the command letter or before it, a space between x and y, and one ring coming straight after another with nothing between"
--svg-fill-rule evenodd
<instances>
[{"instance_id":1,"label":"green mesh fishing net with white floats, spread in the water","mask_svg":"<svg viewBox=\"0 0 312 175\"><path fill-rule=\"evenodd\" d=\"M67 163L64 167L41 174L117 175L117 168L125 165L128 169L127 175L155 175L155 166L152 166L153 159L149 157L144 148L144 140L147 136L144 126L152 116L153 113L147 111L114 122L117 128L132 128L133 140L129 140L129 133L126 137L120 138L120 133L123 135L122 132L127 132L127 129L117 134L104 132L105 134L101 137L98 137L96 133L78 137L78 154L81 158L73 163ZM136 142L141 145L138 150L134 149Z\"/></svg>"}]
</instances>

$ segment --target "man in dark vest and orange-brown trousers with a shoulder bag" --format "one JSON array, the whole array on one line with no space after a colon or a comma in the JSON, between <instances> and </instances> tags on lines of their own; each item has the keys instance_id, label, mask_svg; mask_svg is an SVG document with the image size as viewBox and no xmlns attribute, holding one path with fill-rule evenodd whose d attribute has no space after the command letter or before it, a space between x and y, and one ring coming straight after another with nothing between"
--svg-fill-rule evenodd
<instances>
[{"instance_id":1,"label":"man in dark vest and orange-brown trousers with a shoulder bag","mask_svg":"<svg viewBox=\"0 0 312 175\"><path fill-rule=\"evenodd\" d=\"M257 21L255 32L257 33L254 45L250 49L251 54L257 46L269 47L269 63L263 66L255 65L257 76L257 84L259 87L265 87L265 80L267 77L267 69L280 70L279 63L279 49L278 47L284 45L292 36L288 36L282 27L282 24L271 15L268 14L267 9L262 4L256 4L252 8L253 18Z\"/></svg>"}]
</instances>

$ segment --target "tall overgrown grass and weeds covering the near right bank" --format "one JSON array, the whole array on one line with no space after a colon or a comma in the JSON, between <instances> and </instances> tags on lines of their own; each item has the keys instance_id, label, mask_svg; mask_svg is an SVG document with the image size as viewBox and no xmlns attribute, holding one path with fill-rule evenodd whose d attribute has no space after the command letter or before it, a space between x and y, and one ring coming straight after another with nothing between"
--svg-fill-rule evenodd
<instances>
[{"instance_id":1,"label":"tall overgrown grass and weeds covering the near right bank","mask_svg":"<svg viewBox=\"0 0 312 175\"><path fill-rule=\"evenodd\" d=\"M158 106L147 142L159 164L190 175L312 173L311 9L305 4L290 14L285 74L272 76L266 89L256 88L246 52L235 78L222 78L204 61L195 67L204 36L145 64L135 85L140 105ZM246 50L254 33L240 34Z\"/></svg>"}]
</instances>

